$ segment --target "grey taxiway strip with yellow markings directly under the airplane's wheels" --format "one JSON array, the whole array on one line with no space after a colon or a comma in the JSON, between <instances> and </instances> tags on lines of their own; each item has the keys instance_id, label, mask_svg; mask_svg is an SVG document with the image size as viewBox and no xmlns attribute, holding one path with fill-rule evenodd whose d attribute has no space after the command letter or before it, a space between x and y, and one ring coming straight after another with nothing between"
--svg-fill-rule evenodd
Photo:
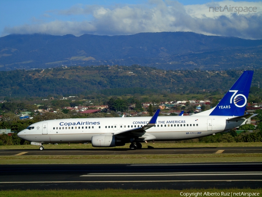
<instances>
[{"instance_id":1,"label":"grey taxiway strip with yellow markings directly under the airplane's wheels","mask_svg":"<svg viewBox=\"0 0 262 197\"><path fill-rule=\"evenodd\" d=\"M262 153L262 147L208 147L208 148L142 148L139 150L121 148L102 149L23 149L0 150L0 156L13 155L153 155L153 154L250 154Z\"/></svg>"}]
</instances>

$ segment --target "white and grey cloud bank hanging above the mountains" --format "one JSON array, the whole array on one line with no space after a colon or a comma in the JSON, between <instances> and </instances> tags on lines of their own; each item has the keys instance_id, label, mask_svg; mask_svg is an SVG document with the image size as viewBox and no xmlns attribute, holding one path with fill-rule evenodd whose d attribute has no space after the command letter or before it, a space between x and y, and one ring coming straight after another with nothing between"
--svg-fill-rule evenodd
<instances>
[{"instance_id":1,"label":"white and grey cloud bank hanging above the mountains","mask_svg":"<svg viewBox=\"0 0 262 197\"><path fill-rule=\"evenodd\" d=\"M219 7L213 12L210 7ZM229 12L225 8L256 7L251 12ZM224 9L224 12L222 10ZM210 10L210 11L209 11ZM221 12L220 12L221 10ZM241 10L241 9L240 9ZM217 11L217 10L216 10ZM256 11L256 12L255 12ZM53 12L54 13L54 12ZM6 27L5 32L53 35L98 34L124 35L140 32L192 31L206 35L237 36L262 39L262 2L219 1L202 5L183 6L178 1L154 0L147 4L115 5L112 7L75 5L68 10L55 11L61 16L88 16L82 21L39 22L34 25ZM50 14L50 12L49 12Z\"/></svg>"}]
</instances>

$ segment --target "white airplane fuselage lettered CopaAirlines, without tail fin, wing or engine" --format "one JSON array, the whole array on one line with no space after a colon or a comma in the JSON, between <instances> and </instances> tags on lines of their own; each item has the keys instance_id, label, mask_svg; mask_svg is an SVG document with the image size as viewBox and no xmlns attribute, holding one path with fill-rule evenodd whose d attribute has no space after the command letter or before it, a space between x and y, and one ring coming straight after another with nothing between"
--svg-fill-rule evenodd
<instances>
[{"instance_id":1,"label":"white airplane fuselage lettered CopaAirlines, without tail fin, wing or engine","mask_svg":"<svg viewBox=\"0 0 262 197\"><path fill-rule=\"evenodd\" d=\"M146 137L126 136L124 143L143 141L187 140L204 137L236 128L245 121L228 122L232 116L159 116L155 126L146 130ZM91 142L94 135L114 134L138 128L148 123L150 117L125 118L72 118L34 123L18 135L24 140L41 143ZM141 140L140 140L141 139ZM143 140L142 140L143 139Z\"/></svg>"}]
</instances>

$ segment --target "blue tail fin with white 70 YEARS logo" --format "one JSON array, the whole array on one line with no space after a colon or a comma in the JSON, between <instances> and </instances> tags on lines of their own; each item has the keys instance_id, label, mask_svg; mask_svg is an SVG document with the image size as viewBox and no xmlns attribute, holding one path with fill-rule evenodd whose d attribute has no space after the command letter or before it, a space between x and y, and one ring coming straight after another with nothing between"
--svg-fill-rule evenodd
<instances>
[{"instance_id":1,"label":"blue tail fin with white 70 YEARS logo","mask_svg":"<svg viewBox=\"0 0 262 197\"><path fill-rule=\"evenodd\" d=\"M210 116L242 116L245 113L247 98L254 71L244 71L236 83L220 100Z\"/></svg>"}]
</instances>

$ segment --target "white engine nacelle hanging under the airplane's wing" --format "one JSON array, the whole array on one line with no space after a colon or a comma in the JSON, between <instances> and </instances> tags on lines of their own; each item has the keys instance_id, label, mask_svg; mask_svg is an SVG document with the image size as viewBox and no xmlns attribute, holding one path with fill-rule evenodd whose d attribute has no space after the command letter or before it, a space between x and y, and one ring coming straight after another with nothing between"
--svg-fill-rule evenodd
<instances>
[{"instance_id":1,"label":"white engine nacelle hanging under the airplane's wing","mask_svg":"<svg viewBox=\"0 0 262 197\"><path fill-rule=\"evenodd\" d=\"M92 146L93 147L115 147L115 136L113 135L94 135L91 138Z\"/></svg>"}]
</instances>

